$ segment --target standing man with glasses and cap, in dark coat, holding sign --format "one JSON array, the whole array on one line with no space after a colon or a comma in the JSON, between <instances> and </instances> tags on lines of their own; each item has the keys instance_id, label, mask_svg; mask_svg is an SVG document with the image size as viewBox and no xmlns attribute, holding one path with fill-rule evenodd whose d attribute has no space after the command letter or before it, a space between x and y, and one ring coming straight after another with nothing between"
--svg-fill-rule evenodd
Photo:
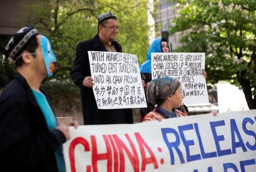
<instances>
[{"instance_id":1,"label":"standing man with glasses and cap, in dark coat, holding sign","mask_svg":"<svg viewBox=\"0 0 256 172\"><path fill-rule=\"evenodd\" d=\"M100 110L93 94L93 78L90 73L88 51L122 52L122 47L115 41L118 22L112 12L97 16L98 33L93 39L77 45L76 59L71 71L73 82L80 88L84 124L129 124L133 123L131 109Z\"/></svg>"}]
</instances>

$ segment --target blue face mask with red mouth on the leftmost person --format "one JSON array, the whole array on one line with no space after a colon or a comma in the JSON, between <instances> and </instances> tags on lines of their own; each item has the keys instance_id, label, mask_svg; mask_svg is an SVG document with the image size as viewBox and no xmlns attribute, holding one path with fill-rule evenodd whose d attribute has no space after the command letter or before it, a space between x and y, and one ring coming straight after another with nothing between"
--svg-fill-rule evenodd
<instances>
[{"instance_id":1,"label":"blue face mask with red mouth on the leftmost person","mask_svg":"<svg viewBox=\"0 0 256 172\"><path fill-rule=\"evenodd\" d=\"M44 57L44 64L46 64L46 70L48 77L51 77L54 70L54 62L56 62L56 57L52 52L51 44L46 36L41 36L41 50Z\"/></svg>"}]
</instances>

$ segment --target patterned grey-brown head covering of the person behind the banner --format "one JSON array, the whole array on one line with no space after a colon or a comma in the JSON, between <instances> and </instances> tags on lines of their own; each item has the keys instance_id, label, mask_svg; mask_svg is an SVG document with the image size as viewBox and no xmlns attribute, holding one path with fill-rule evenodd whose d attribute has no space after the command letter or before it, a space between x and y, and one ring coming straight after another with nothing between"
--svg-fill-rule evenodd
<instances>
[{"instance_id":1,"label":"patterned grey-brown head covering of the person behind the banner","mask_svg":"<svg viewBox=\"0 0 256 172\"><path fill-rule=\"evenodd\" d=\"M147 86L147 101L153 106L160 106L168 96L174 95L179 87L180 82L172 77L154 78Z\"/></svg>"}]
</instances>

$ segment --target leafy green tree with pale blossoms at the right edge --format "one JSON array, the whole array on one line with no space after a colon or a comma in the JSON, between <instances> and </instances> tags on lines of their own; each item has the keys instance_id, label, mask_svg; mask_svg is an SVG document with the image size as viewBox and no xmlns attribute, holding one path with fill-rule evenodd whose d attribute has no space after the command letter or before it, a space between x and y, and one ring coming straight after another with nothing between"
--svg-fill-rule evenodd
<instances>
[{"instance_id":1,"label":"leafy green tree with pale blossoms at the right edge","mask_svg":"<svg viewBox=\"0 0 256 172\"><path fill-rule=\"evenodd\" d=\"M256 1L174 1L171 34L181 32L176 52L205 52L207 81L240 86L249 108L256 108Z\"/></svg>"}]
</instances>

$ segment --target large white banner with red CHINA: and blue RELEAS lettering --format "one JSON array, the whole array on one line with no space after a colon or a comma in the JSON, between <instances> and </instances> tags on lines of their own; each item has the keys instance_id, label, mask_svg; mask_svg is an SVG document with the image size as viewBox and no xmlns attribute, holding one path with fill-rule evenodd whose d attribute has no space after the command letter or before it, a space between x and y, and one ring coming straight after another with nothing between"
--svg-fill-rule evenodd
<instances>
[{"instance_id":1,"label":"large white banner with red CHINA: and blue RELEAS lettering","mask_svg":"<svg viewBox=\"0 0 256 172\"><path fill-rule=\"evenodd\" d=\"M67 171L255 172L256 110L69 127Z\"/></svg>"}]
</instances>

